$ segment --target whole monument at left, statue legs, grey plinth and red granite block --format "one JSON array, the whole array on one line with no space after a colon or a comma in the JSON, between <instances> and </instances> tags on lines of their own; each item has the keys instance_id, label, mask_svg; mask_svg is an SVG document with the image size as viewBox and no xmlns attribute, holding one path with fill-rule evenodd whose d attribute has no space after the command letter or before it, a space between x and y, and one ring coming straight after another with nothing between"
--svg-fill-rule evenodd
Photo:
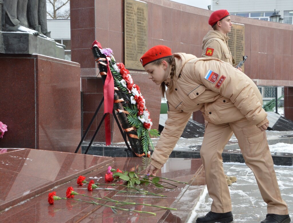
<instances>
[{"instance_id":1,"label":"whole monument at left, statue legs, grey plinth and red granite block","mask_svg":"<svg viewBox=\"0 0 293 223\"><path fill-rule=\"evenodd\" d=\"M45 0L0 0L1 121L6 148L74 152L81 135L80 64L50 38Z\"/></svg>"}]
</instances>

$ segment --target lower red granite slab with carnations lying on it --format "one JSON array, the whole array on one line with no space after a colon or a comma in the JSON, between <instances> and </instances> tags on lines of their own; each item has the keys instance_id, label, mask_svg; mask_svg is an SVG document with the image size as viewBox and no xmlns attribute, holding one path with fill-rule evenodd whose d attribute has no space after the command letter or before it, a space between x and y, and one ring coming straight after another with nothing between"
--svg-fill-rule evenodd
<instances>
[{"instance_id":1,"label":"lower red granite slab with carnations lying on it","mask_svg":"<svg viewBox=\"0 0 293 223\"><path fill-rule=\"evenodd\" d=\"M50 153L56 153L51 151L45 152L49 152L49 154L47 154L49 158ZM64 154L68 155L67 153ZM94 157L90 155L80 154L73 155L84 156L84 158L86 159L88 159L88 157ZM97 158L109 159L110 157ZM96 183L105 183L104 175L108 169L108 165L111 165L115 169L119 168L128 171L142 171L142 173L144 173L145 168L149 163L148 158L142 159L115 157L112 158L112 160L108 161L114 162L110 164L109 162L108 164L105 164L104 162L104 165L101 164L99 167L96 168L96 170L88 172L87 174L83 173L84 176L86 176L86 180L89 181L93 179ZM75 162L75 164L76 163L78 162ZM46 166L46 164L44 163L43 166ZM42 165L40 165L40 169L42 169L41 167ZM64 167L65 166L63 166L62 168ZM50 168L55 169L57 167L51 166ZM17 172L15 173L19 174ZM35 197L30 198L28 200L25 200L25 198L23 198L22 200L25 200L24 202L10 208L9 210L4 210L0 212L0 222L184 222L188 219L193 207L196 204L201 189L205 184L205 181L202 180L203 174L204 171L202 171L202 163L200 159L170 158L168 162L159 171L157 176L162 176L178 181L187 181L188 184L174 183L177 187L170 186L173 187L174 190L159 189L150 185L140 186L140 188L148 190L150 192L166 195L168 196L167 198L149 195L137 195L134 193L117 193L115 191L105 191L102 189L95 189L89 192L87 190L87 185L77 185L77 175L75 175L75 177L71 177L70 180L67 180L66 183L59 183L58 186L55 185L55 188L53 188L54 186L52 185L49 191L46 191L45 193L40 193L39 195L36 195ZM123 181L117 181L116 183L122 184ZM118 213L115 213L109 207L92 205L75 200L58 200L54 201L54 205L48 204L48 193L56 191L57 196L65 197L66 189L68 186L73 186L74 191L76 191L77 193L94 196L98 198L103 198L107 196L114 200L173 207L177 208L177 210L170 211L159 209L157 207L148 207L142 205L135 205L135 207L133 205L122 206L122 208L135 208L135 210L150 211L156 213L156 216L153 216L146 213L134 213L125 211L118 211ZM100 187L131 191L131 189L125 189L125 187L121 185L100 185ZM21 187L19 187L19 189L21 192L23 192ZM89 200L89 198L83 197L81 195L76 195L75 198ZM105 203L105 201L96 201L98 203ZM109 202L106 202L106 204L114 205L114 203ZM3 209L1 208L0 210Z\"/></svg>"}]
</instances>

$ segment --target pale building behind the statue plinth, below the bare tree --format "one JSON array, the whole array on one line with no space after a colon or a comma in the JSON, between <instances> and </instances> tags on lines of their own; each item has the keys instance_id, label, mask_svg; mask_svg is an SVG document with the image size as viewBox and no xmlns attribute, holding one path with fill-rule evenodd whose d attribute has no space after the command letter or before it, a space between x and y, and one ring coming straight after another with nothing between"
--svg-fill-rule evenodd
<instances>
[{"instance_id":1,"label":"pale building behind the statue plinth, below the bare tree","mask_svg":"<svg viewBox=\"0 0 293 223\"><path fill-rule=\"evenodd\" d=\"M70 19L47 19L51 38L65 45L65 60L71 61Z\"/></svg>"}]
</instances>

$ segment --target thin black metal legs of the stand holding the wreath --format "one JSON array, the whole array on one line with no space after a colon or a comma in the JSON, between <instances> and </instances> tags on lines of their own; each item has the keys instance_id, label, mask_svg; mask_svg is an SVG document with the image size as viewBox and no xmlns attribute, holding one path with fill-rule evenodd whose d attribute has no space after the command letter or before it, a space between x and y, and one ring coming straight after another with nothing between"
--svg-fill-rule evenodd
<instances>
[{"instance_id":1,"label":"thin black metal legs of the stand holding the wreath","mask_svg":"<svg viewBox=\"0 0 293 223\"><path fill-rule=\"evenodd\" d=\"M102 100L101 100L101 102L100 102L100 104L99 104L99 106L98 106L98 108L97 108L95 114L93 115L93 118L91 119L91 122L89 123L88 127L86 128L86 131L85 131L84 135L82 136L82 138L81 138L81 140L80 140L80 142L79 142L79 144L78 144L78 146L77 146L77 148L76 148L76 150L75 150L75 153L78 152L79 147L81 146L81 143L84 141L84 138L86 137L86 134L88 133L89 129L91 128L91 125L93 124L93 121L94 121L94 119L96 118L96 116L97 116L97 114L98 114L98 111L99 111L100 107L102 106L103 102L104 102L104 97L102 98ZM107 115L107 114L104 114L103 118L101 119L101 121L100 121L100 123L99 123L99 125L98 125L98 128L96 129L95 134L93 135L93 137L92 137L92 139L91 139L91 142L89 143L88 147L86 148L86 151L85 151L84 154L87 154L89 148L90 148L91 145L93 144L93 140L94 140L94 138L96 137L96 135L97 135L97 133L98 133L98 131L99 131L99 129L100 129L100 127L101 127L101 125L102 125L102 123L103 123L105 117L106 117L106 115ZM122 135L122 137L123 137L123 139L124 139L124 142L125 142L125 144L126 144L126 146L127 146L127 148L125 149L125 152L126 152L127 157L136 157L135 153L132 151L132 149L130 148L130 146L129 146L128 142L127 142L127 139L126 139L126 133L123 132L123 130L122 130L121 126L120 126L120 123L119 123L119 121L118 121L118 119L117 119L117 116L116 116L116 114L115 114L114 109L113 109L113 116L114 116L114 119L115 119L115 121L116 121L116 123L117 123L117 126L118 126L119 130L120 130L120 133L121 133L121 135Z\"/></svg>"}]
</instances>

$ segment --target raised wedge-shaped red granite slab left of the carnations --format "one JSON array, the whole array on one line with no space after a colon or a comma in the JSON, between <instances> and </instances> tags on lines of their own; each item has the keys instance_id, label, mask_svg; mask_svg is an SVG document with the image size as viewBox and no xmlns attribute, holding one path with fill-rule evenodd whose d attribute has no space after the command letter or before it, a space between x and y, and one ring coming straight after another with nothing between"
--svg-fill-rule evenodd
<instances>
[{"instance_id":1,"label":"raised wedge-shaped red granite slab left of the carnations","mask_svg":"<svg viewBox=\"0 0 293 223\"><path fill-rule=\"evenodd\" d=\"M0 210L113 162L111 157L22 149L0 154Z\"/></svg>"}]
</instances>

